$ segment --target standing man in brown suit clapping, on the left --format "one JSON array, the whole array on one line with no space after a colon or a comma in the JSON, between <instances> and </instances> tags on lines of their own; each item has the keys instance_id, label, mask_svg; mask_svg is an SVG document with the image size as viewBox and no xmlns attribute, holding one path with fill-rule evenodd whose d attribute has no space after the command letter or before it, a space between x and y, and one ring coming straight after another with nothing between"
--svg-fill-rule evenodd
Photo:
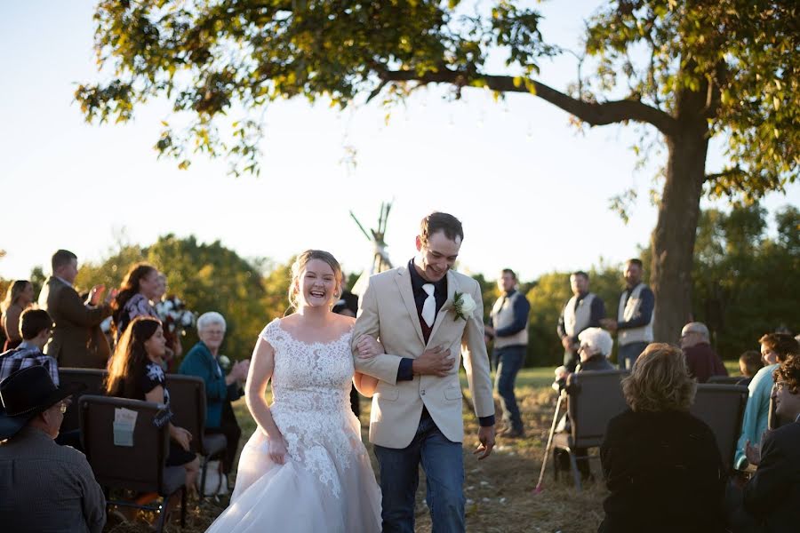
<instances>
[{"instance_id":1,"label":"standing man in brown suit clapping, on the left","mask_svg":"<svg viewBox=\"0 0 800 533\"><path fill-rule=\"evenodd\" d=\"M47 311L55 326L44 353L54 357L60 367L106 368L111 349L100 330L111 314L111 306L100 303L105 287L92 287L86 302L72 287L77 275L77 257L67 250L52 254L52 276L39 293L39 307ZM109 298L113 294L109 294Z\"/></svg>"}]
</instances>

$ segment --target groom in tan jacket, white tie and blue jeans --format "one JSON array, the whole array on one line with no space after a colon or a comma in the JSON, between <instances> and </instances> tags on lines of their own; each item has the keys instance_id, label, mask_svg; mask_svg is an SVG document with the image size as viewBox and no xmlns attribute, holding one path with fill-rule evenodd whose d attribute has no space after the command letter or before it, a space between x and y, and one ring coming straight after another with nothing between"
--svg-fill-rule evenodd
<instances>
[{"instance_id":1,"label":"groom in tan jacket, white tie and blue jeans","mask_svg":"<svg viewBox=\"0 0 800 533\"><path fill-rule=\"evenodd\" d=\"M480 420L479 459L494 446L494 402L484 345L481 290L450 269L464 232L459 219L434 212L422 219L417 255L407 267L370 278L353 331L356 370L380 379L372 398L370 442L380 467L384 533L412 533L419 465L428 480L433 530L464 523L459 362ZM358 357L364 337L386 354Z\"/></svg>"}]
</instances>

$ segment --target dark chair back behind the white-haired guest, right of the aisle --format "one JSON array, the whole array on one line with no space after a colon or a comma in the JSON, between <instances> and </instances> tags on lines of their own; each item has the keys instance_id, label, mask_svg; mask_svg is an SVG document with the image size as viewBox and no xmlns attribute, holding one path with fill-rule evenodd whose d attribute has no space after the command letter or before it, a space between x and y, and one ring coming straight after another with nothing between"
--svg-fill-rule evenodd
<instances>
[{"instance_id":1,"label":"dark chair back behind the white-haired guest, right of the aisle","mask_svg":"<svg viewBox=\"0 0 800 533\"><path fill-rule=\"evenodd\" d=\"M587 370L572 374L569 394L572 446L600 446L609 420L628 409L620 381L628 370Z\"/></svg>"}]
</instances>

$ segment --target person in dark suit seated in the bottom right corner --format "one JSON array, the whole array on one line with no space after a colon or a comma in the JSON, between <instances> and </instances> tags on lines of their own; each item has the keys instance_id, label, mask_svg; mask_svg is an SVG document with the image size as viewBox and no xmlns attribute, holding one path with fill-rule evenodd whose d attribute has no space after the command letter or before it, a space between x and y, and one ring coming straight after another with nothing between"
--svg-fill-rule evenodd
<instances>
[{"instance_id":1,"label":"person in dark suit seated in the bottom right corner","mask_svg":"<svg viewBox=\"0 0 800 533\"><path fill-rule=\"evenodd\" d=\"M733 515L738 532L796 531L800 528L800 354L773 371L772 401L785 426L767 432L760 449L748 449L756 473L744 486Z\"/></svg>"}]
</instances>

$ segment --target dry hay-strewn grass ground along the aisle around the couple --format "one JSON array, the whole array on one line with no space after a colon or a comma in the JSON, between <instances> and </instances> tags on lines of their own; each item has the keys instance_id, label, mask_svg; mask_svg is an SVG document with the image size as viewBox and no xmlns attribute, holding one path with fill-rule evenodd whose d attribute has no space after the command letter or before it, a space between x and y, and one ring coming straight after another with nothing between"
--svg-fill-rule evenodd
<instances>
[{"instance_id":1,"label":"dry hay-strewn grass ground along the aisle around the couple","mask_svg":"<svg viewBox=\"0 0 800 533\"><path fill-rule=\"evenodd\" d=\"M553 410L555 393L543 387L523 387L518 389L520 410L522 411L527 435L524 439L503 440L498 438L498 446L491 457L478 461L472 454L477 446L477 421L472 413L465 410L464 468L466 482L464 494L468 498L467 529L470 533L595 533L603 518L602 501L606 489L596 483L577 492L572 482L562 475L559 481L553 480L552 463L543 483L544 490L533 494L539 477L541 458ZM252 432L252 419L249 418L244 402L237 402L236 414L243 426L243 434ZM366 428L369 421L369 404L363 401L362 413L364 442L367 441ZM500 412L498 412L500 420ZM499 424L501 426L501 424ZM246 442L243 438L242 444ZM370 445L367 444L368 448ZM378 472L374 455L372 467ZM593 461L593 472L601 479L598 461ZM417 491L416 531L428 533L430 516L425 505L425 476L420 473L420 488ZM209 500L198 506L196 500L189 502L187 527L180 529L178 511L172 513L172 521L166 531L200 533L204 531L228 505L228 497L219 501ZM150 529L144 522L116 524L109 517L104 529L107 533L148 533Z\"/></svg>"}]
</instances>

